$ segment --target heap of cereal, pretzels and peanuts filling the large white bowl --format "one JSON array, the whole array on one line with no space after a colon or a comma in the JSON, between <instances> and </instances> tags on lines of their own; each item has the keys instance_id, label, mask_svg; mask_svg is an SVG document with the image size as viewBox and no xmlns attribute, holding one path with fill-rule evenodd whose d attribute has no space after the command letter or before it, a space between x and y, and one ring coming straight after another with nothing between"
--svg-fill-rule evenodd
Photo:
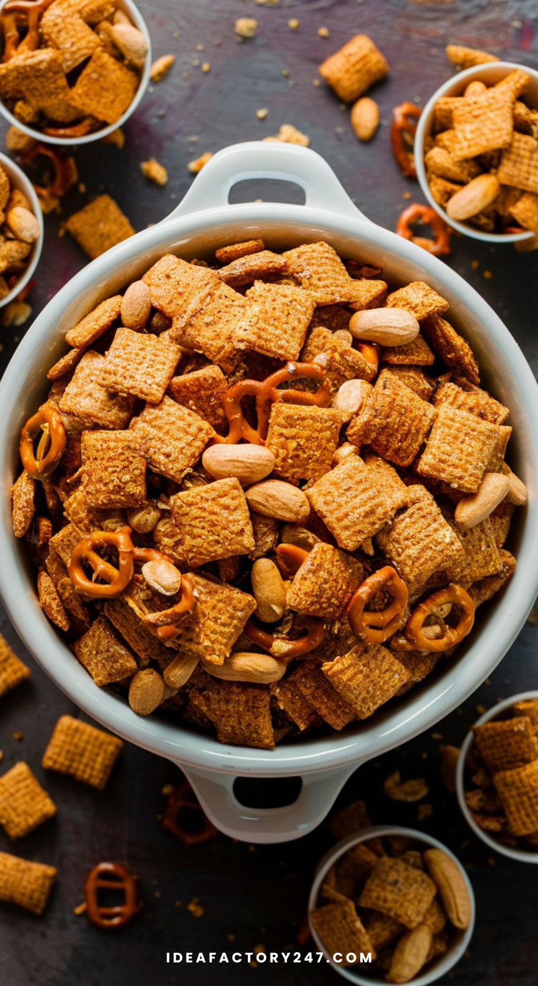
<instances>
[{"instance_id":1,"label":"heap of cereal, pretzels and peanuts filling the large white bowl","mask_svg":"<svg viewBox=\"0 0 538 986\"><path fill-rule=\"evenodd\" d=\"M13 519L96 684L271 748L452 660L526 489L447 309L256 240L166 254L69 328Z\"/></svg>"}]
</instances>

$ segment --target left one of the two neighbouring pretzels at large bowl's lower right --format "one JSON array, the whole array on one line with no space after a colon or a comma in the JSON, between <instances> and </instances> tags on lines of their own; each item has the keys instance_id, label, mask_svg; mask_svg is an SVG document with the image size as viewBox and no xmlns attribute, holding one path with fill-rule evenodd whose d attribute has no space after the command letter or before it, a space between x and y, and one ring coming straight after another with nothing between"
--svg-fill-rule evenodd
<instances>
[{"instance_id":1,"label":"left one of the two neighbouring pretzels at large bowl's lower right","mask_svg":"<svg viewBox=\"0 0 538 986\"><path fill-rule=\"evenodd\" d=\"M392 601L379 611L365 609L380 589L388 590ZM347 619L353 633L368 644L382 644L396 633L408 604L408 588L391 565L385 565L364 580L347 606ZM374 629L379 627L380 629Z\"/></svg>"}]
</instances>

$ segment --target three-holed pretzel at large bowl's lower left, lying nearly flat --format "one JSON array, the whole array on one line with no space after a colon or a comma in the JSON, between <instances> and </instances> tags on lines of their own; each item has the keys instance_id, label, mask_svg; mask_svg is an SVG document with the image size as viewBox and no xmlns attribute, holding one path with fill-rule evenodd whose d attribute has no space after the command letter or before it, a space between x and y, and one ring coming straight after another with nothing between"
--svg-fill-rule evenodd
<instances>
[{"instance_id":1,"label":"three-holed pretzel at large bowl's lower left, lying nearly flat","mask_svg":"<svg viewBox=\"0 0 538 986\"><path fill-rule=\"evenodd\" d=\"M118 555L118 568L105 561L96 551L98 547L115 547ZM86 575L82 562L93 569L93 578ZM75 589L85 596L98 599L112 599L119 596L128 586L134 572L134 547L130 538L130 528L119 530L93 530L83 537L71 554L68 572ZM106 585L98 583L103 579Z\"/></svg>"}]
</instances>

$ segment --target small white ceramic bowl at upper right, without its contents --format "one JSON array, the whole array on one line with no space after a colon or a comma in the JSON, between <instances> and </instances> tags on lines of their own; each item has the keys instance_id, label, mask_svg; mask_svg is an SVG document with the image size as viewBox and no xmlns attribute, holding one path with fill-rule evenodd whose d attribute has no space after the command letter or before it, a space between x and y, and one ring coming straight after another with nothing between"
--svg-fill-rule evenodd
<instances>
[{"instance_id":1,"label":"small white ceramic bowl at upper right, without its contents","mask_svg":"<svg viewBox=\"0 0 538 986\"><path fill-rule=\"evenodd\" d=\"M476 65L474 68L465 69L464 72L458 72L457 75L453 75L451 79L448 79L442 86L439 86L423 108L415 135L415 167L417 168L417 177L423 189L423 194L430 206L435 209L435 212L452 229L457 230L458 233L463 233L466 237L471 237L473 240L482 240L483 243L517 243L518 240L530 240L534 234L527 232L486 233L484 230L475 230L468 223L458 223L455 219L450 219L446 210L435 201L429 189L424 167L424 141L431 133L435 104L441 96L462 96L469 83L475 79L481 79L487 86L494 86L497 82L500 82L500 79L503 79L504 76L508 75L509 72L513 72L516 68L521 69L530 76L530 82L523 95L528 97L531 106L538 108L538 72L536 69L530 68L528 65L518 65L516 62L488 62L487 65Z\"/></svg>"}]
</instances>

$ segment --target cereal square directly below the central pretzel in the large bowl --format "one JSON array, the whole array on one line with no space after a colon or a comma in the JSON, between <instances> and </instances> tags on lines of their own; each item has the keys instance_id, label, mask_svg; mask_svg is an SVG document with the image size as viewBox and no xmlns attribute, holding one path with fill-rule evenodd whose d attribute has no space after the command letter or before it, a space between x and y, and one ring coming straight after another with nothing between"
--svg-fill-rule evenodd
<instances>
[{"instance_id":1,"label":"cereal square directly below the central pretzel in the large bowl","mask_svg":"<svg viewBox=\"0 0 538 986\"><path fill-rule=\"evenodd\" d=\"M333 464L342 412L332 407L301 407L275 402L266 447L274 456L274 472L290 482L315 482Z\"/></svg>"}]
</instances>

